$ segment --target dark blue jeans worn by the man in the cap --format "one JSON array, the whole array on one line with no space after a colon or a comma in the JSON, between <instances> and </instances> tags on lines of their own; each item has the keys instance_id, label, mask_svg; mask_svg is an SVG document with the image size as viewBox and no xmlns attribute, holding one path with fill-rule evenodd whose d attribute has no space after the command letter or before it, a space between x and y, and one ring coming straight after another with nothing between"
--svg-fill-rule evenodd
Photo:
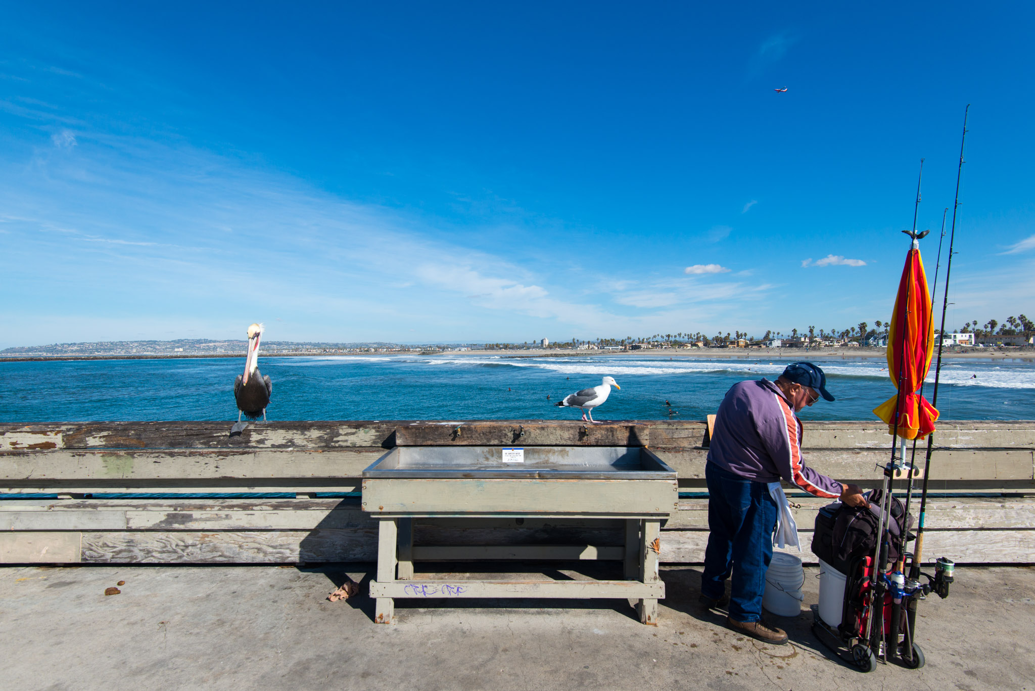
<instances>
[{"instance_id":1,"label":"dark blue jeans worn by the man in the cap","mask_svg":"<svg viewBox=\"0 0 1035 691\"><path fill-rule=\"evenodd\" d=\"M708 548L701 594L718 600L726 593L726 579L733 575L730 618L758 622L762 618L762 594L766 571L773 556L772 534L776 527L776 502L766 483L751 482L705 465L708 482Z\"/></svg>"}]
</instances>

